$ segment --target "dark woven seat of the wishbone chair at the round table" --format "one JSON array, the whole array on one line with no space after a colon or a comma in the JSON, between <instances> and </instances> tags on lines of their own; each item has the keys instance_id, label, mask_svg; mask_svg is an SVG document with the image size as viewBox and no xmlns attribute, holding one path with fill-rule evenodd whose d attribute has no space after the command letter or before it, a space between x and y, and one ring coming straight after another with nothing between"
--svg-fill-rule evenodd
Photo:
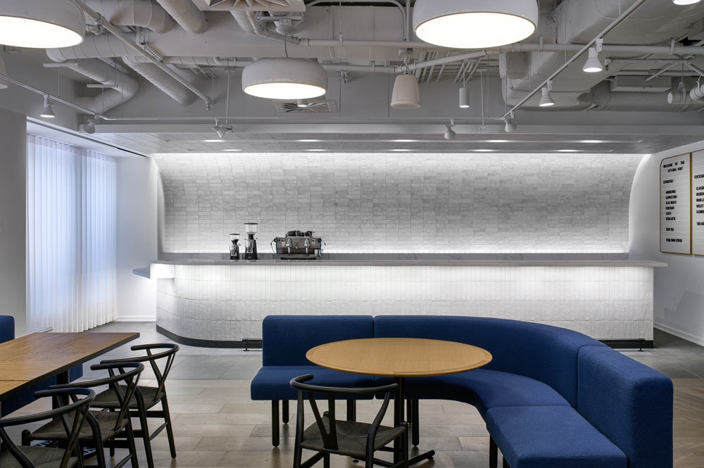
<instances>
[{"instance_id":1,"label":"dark woven seat of the wishbone chair at the round table","mask_svg":"<svg viewBox=\"0 0 704 468\"><path fill-rule=\"evenodd\" d=\"M323 424L325 424L326 431L329 431L328 417L324 416L322 420ZM335 427L337 429L337 446L339 453L341 455L347 455L348 457L365 458L367 456L367 433L369 432L370 426L371 424L364 422L339 421L336 419ZM374 450L379 450L379 448L388 445L395 438L403 434L404 431L406 431L406 429L403 427L379 426L377 437L374 441ZM308 429L303 432L301 447L318 451L325 449L322 436L320 436L320 428L317 423L311 424L308 426Z\"/></svg>"}]
</instances>

